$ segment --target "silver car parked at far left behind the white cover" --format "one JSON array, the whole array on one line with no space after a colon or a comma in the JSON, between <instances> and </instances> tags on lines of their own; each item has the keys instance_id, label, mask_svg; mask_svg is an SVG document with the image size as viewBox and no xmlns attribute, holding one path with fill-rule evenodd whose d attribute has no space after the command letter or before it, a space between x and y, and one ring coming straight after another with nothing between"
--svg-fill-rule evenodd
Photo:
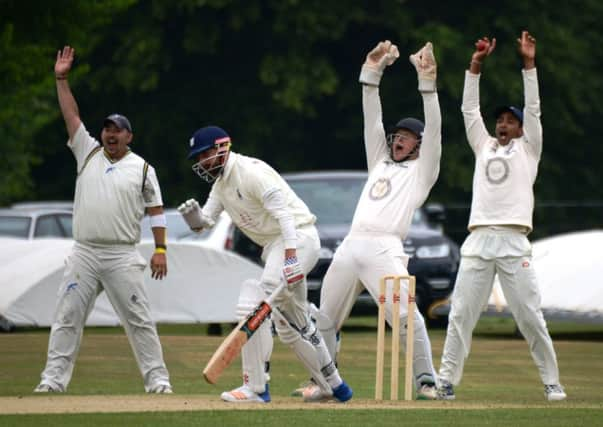
<instances>
[{"instance_id":1,"label":"silver car parked at far left behind the white cover","mask_svg":"<svg viewBox=\"0 0 603 427\"><path fill-rule=\"evenodd\" d=\"M72 212L42 206L0 209L0 236L21 239L58 237L70 239Z\"/></svg>"}]
</instances>

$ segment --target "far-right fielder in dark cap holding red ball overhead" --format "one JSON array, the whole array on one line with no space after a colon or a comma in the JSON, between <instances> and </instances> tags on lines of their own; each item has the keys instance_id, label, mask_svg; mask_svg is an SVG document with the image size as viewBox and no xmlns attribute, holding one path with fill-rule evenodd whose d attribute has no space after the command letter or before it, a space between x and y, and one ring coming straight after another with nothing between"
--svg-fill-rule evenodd
<instances>
[{"instance_id":1,"label":"far-right fielder in dark cap holding red ball overhead","mask_svg":"<svg viewBox=\"0 0 603 427\"><path fill-rule=\"evenodd\" d=\"M461 264L452 294L448 331L440 366L441 399L455 398L453 385L461 381L471 335L492 291L495 274L528 341L544 383L547 400L563 400L553 343L540 309L540 293L527 234L532 231L533 185L542 153L540 97L535 56L536 40L527 31L517 39L523 59L523 112L513 106L496 110L495 136L480 112L481 64L496 39L478 40L465 72L462 112L467 140L475 154L470 234L461 247Z\"/></svg>"}]
</instances>

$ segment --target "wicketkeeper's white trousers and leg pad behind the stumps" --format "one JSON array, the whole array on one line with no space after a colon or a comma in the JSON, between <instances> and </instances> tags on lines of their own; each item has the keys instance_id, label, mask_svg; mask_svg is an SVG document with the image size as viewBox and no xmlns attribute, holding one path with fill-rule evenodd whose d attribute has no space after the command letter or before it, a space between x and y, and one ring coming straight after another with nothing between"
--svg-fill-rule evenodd
<instances>
[{"instance_id":1,"label":"wicketkeeper's white trousers and leg pad behind the stumps","mask_svg":"<svg viewBox=\"0 0 603 427\"><path fill-rule=\"evenodd\" d=\"M335 252L320 293L319 327L333 357L335 334L350 315L363 288L377 303L381 277L408 275L407 263L408 256L404 253L400 236L352 232L344 239ZM385 319L390 326L394 321L400 322L401 343L405 349L408 283L402 281L399 313L392 311L391 286L386 292L386 301ZM413 373L418 387L422 381L435 381L436 375L425 321L416 308L414 337Z\"/></svg>"}]
</instances>

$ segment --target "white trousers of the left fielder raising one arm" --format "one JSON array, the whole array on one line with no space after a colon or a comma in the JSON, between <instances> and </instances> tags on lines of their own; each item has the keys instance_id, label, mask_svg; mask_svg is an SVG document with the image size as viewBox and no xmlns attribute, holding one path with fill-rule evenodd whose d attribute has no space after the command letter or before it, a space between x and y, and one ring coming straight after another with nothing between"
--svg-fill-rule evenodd
<instances>
[{"instance_id":1,"label":"white trousers of the left fielder raising one arm","mask_svg":"<svg viewBox=\"0 0 603 427\"><path fill-rule=\"evenodd\" d=\"M84 324L104 290L124 326L145 391L170 384L144 289L145 266L134 245L74 244L58 291L42 383L67 389Z\"/></svg>"}]
</instances>

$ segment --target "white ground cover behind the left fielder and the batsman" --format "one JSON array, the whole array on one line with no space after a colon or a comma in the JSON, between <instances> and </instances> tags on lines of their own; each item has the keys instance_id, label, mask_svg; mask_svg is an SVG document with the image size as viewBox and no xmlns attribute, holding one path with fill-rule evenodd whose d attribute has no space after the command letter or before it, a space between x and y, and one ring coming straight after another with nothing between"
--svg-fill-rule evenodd
<instances>
[{"instance_id":1,"label":"white ground cover behind the left fielder and the batsman","mask_svg":"<svg viewBox=\"0 0 603 427\"><path fill-rule=\"evenodd\" d=\"M73 240L0 239L0 315L17 326L50 326ZM138 247L148 261L153 243ZM239 255L196 243L170 244L168 275L145 285L153 319L161 323L236 322L241 283L259 279L261 267ZM101 293L86 323L118 325L106 294Z\"/></svg>"}]
</instances>

